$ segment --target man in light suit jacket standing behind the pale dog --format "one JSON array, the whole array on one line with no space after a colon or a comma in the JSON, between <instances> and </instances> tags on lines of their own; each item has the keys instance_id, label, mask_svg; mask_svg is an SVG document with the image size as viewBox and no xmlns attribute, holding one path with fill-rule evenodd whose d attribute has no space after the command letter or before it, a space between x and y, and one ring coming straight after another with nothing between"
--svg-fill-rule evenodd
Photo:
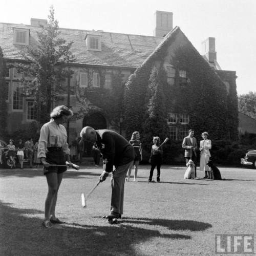
<instances>
[{"instance_id":1,"label":"man in light suit jacket standing behind the pale dog","mask_svg":"<svg viewBox=\"0 0 256 256\"><path fill-rule=\"evenodd\" d=\"M182 142L182 148L185 149L185 159L186 163L189 159L192 159L192 161L195 163L195 177L197 177L197 140L194 136L194 130L190 129L188 131L188 136L183 139ZM192 154L192 155L191 155Z\"/></svg>"}]
</instances>

